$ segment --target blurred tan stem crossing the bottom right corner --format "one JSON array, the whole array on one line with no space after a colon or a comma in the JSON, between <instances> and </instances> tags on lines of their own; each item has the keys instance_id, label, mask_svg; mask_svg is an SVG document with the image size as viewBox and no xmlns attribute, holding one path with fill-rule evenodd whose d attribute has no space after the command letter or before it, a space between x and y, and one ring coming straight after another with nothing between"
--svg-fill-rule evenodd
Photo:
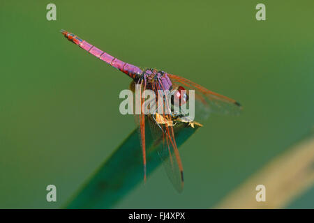
<instances>
[{"instance_id":1,"label":"blurred tan stem crossing the bottom right corner","mask_svg":"<svg viewBox=\"0 0 314 223\"><path fill-rule=\"evenodd\" d=\"M271 160L216 208L284 208L314 183L314 134ZM266 188L266 201L257 202L257 185Z\"/></svg>"}]
</instances>

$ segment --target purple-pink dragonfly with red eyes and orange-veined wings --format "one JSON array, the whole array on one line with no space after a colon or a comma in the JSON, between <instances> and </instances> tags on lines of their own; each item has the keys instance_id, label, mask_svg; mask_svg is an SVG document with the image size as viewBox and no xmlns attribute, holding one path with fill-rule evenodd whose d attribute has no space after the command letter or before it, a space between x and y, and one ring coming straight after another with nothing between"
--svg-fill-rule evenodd
<instances>
[{"instance_id":1,"label":"purple-pink dragonfly with red eyes and orange-veined wings","mask_svg":"<svg viewBox=\"0 0 314 223\"><path fill-rule=\"evenodd\" d=\"M216 114L231 114L237 115L241 112L241 105L236 100L227 98L224 95L220 95L213 91L209 91L200 84L190 81L184 77L178 75L172 75L163 70L157 70L153 68L142 69L133 64L126 63L111 56L107 52L98 49L94 45L87 43L82 38L76 36L65 30L61 30L61 33L70 42L75 43L82 49L86 50L90 54L96 56L101 61L109 64L110 66L117 68L121 72L124 72L128 77L132 79L130 88L134 90L134 86L140 88L140 92L149 89L154 92L167 91L170 94L171 100L166 100L165 109L172 107L173 101L179 100L179 104L184 104L189 100L188 90L194 90L195 92L195 109L200 110L200 116L207 117L211 113ZM132 87L133 86L133 87ZM138 90L138 89L137 89ZM142 107L144 100L140 97L140 105ZM158 102L157 102L158 105ZM167 172L167 176L174 185L174 188L181 192L184 187L184 169L181 162L181 157L174 137L174 125L178 122L188 123L189 127L194 128L194 125L200 125L193 120L186 119L184 115L177 115L170 112L170 114L160 114L156 112L154 115L147 115L144 112L135 115L137 123L139 125L140 142L142 149L142 162L143 162L143 175L144 182L147 180L147 151L145 141L145 123L148 123L151 128L153 137L156 141L160 141L160 151L158 152L163 166ZM148 122L146 122L146 120ZM147 124L146 124L147 125ZM158 139L157 139L158 138Z\"/></svg>"}]
</instances>

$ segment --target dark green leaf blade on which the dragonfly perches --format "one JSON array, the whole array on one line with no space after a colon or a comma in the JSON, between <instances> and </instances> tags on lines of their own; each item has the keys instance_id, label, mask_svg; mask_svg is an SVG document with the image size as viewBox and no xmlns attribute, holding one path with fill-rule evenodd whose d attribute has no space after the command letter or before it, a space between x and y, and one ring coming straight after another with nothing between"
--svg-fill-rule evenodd
<instances>
[{"instance_id":1,"label":"dark green leaf blade on which the dragonfly perches","mask_svg":"<svg viewBox=\"0 0 314 223\"><path fill-rule=\"evenodd\" d=\"M146 125L147 126L147 125ZM188 123L174 125L177 147L184 144L199 128ZM151 132L146 129L147 175L161 163L157 153L161 144L154 143ZM143 182L142 149L138 131L135 129L124 140L94 176L82 187L66 208L112 208L137 184Z\"/></svg>"}]
</instances>

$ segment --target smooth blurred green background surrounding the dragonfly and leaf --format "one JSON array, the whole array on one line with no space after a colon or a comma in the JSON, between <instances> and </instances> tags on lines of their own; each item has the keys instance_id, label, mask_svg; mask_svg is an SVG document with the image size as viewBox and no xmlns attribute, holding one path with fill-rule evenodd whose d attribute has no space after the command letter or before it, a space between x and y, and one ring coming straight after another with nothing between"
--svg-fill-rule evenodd
<instances>
[{"instance_id":1,"label":"smooth blurred green background surrounding the dragonfly and leaf","mask_svg":"<svg viewBox=\"0 0 314 223\"><path fill-rule=\"evenodd\" d=\"M116 208L213 207L314 125L313 0L52 2L57 21L46 20L51 1L0 3L0 208L61 207L135 128L119 113L130 79L60 29L244 105L241 116L211 116L181 147L182 194L159 168ZM312 189L288 208L313 200Z\"/></svg>"}]
</instances>

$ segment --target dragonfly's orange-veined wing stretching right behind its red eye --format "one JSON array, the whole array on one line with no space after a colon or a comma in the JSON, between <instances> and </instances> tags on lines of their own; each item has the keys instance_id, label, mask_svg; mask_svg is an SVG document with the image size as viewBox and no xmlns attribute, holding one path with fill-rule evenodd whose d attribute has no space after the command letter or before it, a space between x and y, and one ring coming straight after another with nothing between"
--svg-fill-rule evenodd
<instances>
[{"instance_id":1,"label":"dragonfly's orange-veined wing stretching right behind its red eye","mask_svg":"<svg viewBox=\"0 0 314 223\"><path fill-rule=\"evenodd\" d=\"M170 75L172 84L177 86L184 86L186 89L195 90L195 102L200 102L199 107L195 106L195 109L202 109L205 113L217 113L217 114L232 114L237 115L241 112L241 105L236 100L227 98L224 95L220 95L213 91L191 82L190 80L179 77L177 75Z\"/></svg>"}]
</instances>

